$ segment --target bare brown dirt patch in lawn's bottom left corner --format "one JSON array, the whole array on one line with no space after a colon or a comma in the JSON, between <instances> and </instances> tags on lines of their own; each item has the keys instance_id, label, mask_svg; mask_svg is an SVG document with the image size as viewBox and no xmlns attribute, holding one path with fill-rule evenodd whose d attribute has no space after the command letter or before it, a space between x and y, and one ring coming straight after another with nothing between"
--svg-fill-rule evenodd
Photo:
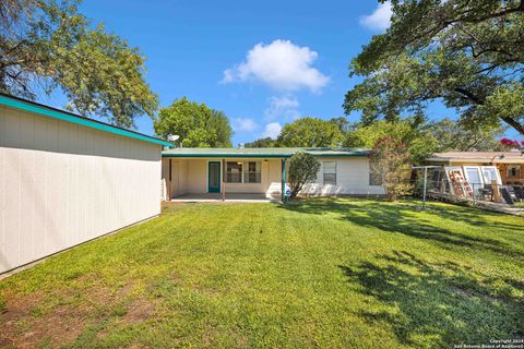
<instances>
[{"instance_id":1,"label":"bare brown dirt patch in lawn's bottom left corner","mask_svg":"<svg viewBox=\"0 0 524 349\"><path fill-rule=\"evenodd\" d=\"M0 313L0 347L35 348L43 341L52 346L71 344L90 322L115 316L115 308L126 303L127 312L119 321L127 324L144 322L155 311L154 303L146 299L126 301L132 298L133 282L109 288L96 276L85 275L70 286L26 296L5 294L5 308Z\"/></svg>"}]
</instances>

